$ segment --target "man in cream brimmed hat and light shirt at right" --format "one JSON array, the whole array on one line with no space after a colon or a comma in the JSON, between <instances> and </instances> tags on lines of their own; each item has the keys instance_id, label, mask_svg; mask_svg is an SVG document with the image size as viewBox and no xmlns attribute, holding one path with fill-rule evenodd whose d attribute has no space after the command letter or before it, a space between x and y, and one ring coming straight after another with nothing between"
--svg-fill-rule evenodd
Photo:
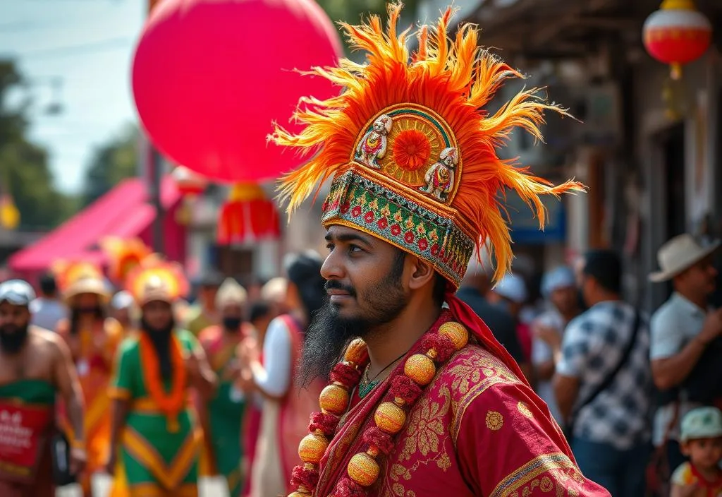
<instances>
[{"instance_id":1,"label":"man in cream brimmed hat and light shirt at right","mask_svg":"<svg viewBox=\"0 0 722 497\"><path fill-rule=\"evenodd\" d=\"M669 467L682 464L679 420L697 403L691 402L685 382L722 334L722 310L708 310L708 298L716 286L713 253L719 242L703 246L692 235L675 236L658 251L659 270L652 282L672 282L674 293L651 319L650 358L658 395L653 443L666 449ZM717 358L718 360L718 358ZM680 388L682 387L682 388ZM708 388L713 385L708 383Z\"/></svg>"}]
</instances>

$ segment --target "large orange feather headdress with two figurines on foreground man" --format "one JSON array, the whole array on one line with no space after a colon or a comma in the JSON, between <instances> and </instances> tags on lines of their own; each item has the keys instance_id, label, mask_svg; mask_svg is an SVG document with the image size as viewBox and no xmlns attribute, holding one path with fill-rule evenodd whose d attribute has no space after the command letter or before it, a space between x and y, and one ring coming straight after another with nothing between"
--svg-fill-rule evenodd
<instances>
[{"instance_id":1,"label":"large orange feather headdress with two figurines on foreground man","mask_svg":"<svg viewBox=\"0 0 722 497\"><path fill-rule=\"evenodd\" d=\"M504 189L516 190L543 227L539 196L583 185L552 186L495 149L516 127L541 139L544 111L565 111L531 89L487 113L495 92L521 74L479 48L476 27L461 25L449 36L451 9L432 30L419 28L419 48L410 56L409 30L397 31L400 12L401 4L389 5L385 31L378 16L360 26L341 23L352 48L367 52L366 63L342 59L309 73L343 91L328 100L303 98L294 114L305 125L299 134L275 126L269 139L312 155L282 178L280 196L292 212L333 177L324 225L382 238L434 264L456 287L487 241L498 279L512 260Z\"/></svg>"}]
</instances>

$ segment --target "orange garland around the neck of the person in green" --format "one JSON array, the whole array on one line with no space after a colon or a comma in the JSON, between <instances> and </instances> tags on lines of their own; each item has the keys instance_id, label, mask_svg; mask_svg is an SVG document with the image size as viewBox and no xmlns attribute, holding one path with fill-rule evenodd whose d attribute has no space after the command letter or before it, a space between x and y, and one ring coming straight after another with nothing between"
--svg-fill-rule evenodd
<instances>
[{"instance_id":1,"label":"orange garland around the neck of the person in green","mask_svg":"<svg viewBox=\"0 0 722 497\"><path fill-rule=\"evenodd\" d=\"M183 363L181 344L175 336L170 338L170 364L173 377L170 392L166 393L160 377L158 356L145 334L139 334L143 381L150 397L168 418L168 430L178 431L178 414L186 407L186 365Z\"/></svg>"}]
</instances>

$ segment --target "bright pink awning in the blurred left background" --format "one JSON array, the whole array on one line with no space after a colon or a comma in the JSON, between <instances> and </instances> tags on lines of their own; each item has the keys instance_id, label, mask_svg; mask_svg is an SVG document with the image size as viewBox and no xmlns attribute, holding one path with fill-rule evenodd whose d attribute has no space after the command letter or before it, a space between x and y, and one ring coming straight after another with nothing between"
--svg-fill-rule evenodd
<instances>
[{"instance_id":1,"label":"bright pink awning in the blurred left background","mask_svg":"<svg viewBox=\"0 0 722 497\"><path fill-rule=\"evenodd\" d=\"M163 178L160 197L164 209L173 207L181 199L170 177ZM87 258L105 262L102 253L97 251L100 240L108 235L139 236L155 215L142 178L126 179L36 243L13 254L9 267L15 272L35 272L48 269L58 259Z\"/></svg>"}]
</instances>

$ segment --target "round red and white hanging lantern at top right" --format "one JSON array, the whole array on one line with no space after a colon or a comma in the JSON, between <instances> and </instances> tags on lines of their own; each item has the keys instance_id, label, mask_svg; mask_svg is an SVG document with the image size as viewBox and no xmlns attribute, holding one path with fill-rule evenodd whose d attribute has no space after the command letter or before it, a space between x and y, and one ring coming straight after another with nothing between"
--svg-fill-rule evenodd
<instances>
[{"instance_id":1,"label":"round red and white hanging lantern at top right","mask_svg":"<svg viewBox=\"0 0 722 497\"><path fill-rule=\"evenodd\" d=\"M703 56L712 41L712 25L692 0L664 0L643 32L648 53L671 66L672 79L682 77L682 65Z\"/></svg>"}]
</instances>

